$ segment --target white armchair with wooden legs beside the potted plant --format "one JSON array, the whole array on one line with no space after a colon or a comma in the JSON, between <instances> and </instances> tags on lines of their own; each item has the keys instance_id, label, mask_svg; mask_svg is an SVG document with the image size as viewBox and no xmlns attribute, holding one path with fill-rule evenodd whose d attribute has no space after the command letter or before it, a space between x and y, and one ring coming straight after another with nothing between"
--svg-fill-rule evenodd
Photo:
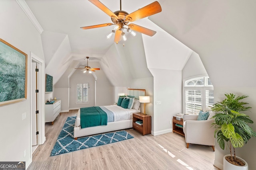
<instances>
[{"instance_id":1,"label":"white armchair with wooden legs beside the potted plant","mask_svg":"<svg viewBox=\"0 0 256 170\"><path fill-rule=\"evenodd\" d=\"M189 144L199 144L212 146L213 151L215 151L214 146L214 119L210 119L214 115L211 111L207 120L198 121L198 115L184 115L183 116L183 131L185 134L185 140L187 143L187 148Z\"/></svg>"}]
</instances>

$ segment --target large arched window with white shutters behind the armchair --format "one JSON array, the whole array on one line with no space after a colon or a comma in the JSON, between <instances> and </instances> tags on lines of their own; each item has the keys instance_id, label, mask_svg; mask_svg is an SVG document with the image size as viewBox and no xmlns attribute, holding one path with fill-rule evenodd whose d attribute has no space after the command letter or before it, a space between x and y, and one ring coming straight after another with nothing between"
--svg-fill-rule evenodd
<instances>
[{"instance_id":1,"label":"large arched window with white shutters behind the armchair","mask_svg":"<svg viewBox=\"0 0 256 170\"><path fill-rule=\"evenodd\" d=\"M184 81L184 107L186 114L198 114L214 104L213 85L209 77L196 77Z\"/></svg>"}]
</instances>

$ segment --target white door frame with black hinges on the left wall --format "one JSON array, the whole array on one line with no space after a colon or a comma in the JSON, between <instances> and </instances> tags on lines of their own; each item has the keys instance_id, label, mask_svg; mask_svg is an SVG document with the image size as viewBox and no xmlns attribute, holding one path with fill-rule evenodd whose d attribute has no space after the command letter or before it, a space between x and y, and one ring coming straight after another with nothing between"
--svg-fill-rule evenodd
<instances>
[{"instance_id":1,"label":"white door frame with black hinges on the left wall","mask_svg":"<svg viewBox=\"0 0 256 170\"><path fill-rule=\"evenodd\" d=\"M38 63L38 145L44 144L46 141L45 129L44 129L44 98L45 98L45 63L42 59L37 57L34 53L30 52L30 77L32 76L32 61L33 63ZM32 86L32 80L30 78L30 87ZM32 88L30 88L30 117L32 117ZM30 119L30 147L31 147L31 158L32 158L32 118Z\"/></svg>"}]
</instances>

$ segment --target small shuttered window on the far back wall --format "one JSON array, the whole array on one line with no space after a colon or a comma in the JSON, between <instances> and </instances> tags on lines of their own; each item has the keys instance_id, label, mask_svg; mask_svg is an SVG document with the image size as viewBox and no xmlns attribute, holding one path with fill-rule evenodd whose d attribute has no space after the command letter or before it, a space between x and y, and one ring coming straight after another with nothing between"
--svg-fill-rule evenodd
<instances>
[{"instance_id":1,"label":"small shuttered window on the far back wall","mask_svg":"<svg viewBox=\"0 0 256 170\"><path fill-rule=\"evenodd\" d=\"M89 83L76 84L76 103L89 102Z\"/></svg>"}]
</instances>

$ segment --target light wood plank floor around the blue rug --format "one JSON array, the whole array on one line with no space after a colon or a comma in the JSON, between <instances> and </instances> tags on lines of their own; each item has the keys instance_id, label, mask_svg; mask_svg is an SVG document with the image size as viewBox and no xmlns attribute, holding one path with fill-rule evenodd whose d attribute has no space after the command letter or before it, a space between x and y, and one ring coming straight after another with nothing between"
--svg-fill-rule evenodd
<instances>
[{"instance_id":1,"label":"light wood plank floor around the blue rug","mask_svg":"<svg viewBox=\"0 0 256 170\"><path fill-rule=\"evenodd\" d=\"M28 170L218 170L212 147L190 144L187 149L176 133L142 136L133 129L126 129L133 139L50 156L67 117L76 112L61 113L54 125L45 124L46 142L34 152Z\"/></svg>"}]
</instances>

